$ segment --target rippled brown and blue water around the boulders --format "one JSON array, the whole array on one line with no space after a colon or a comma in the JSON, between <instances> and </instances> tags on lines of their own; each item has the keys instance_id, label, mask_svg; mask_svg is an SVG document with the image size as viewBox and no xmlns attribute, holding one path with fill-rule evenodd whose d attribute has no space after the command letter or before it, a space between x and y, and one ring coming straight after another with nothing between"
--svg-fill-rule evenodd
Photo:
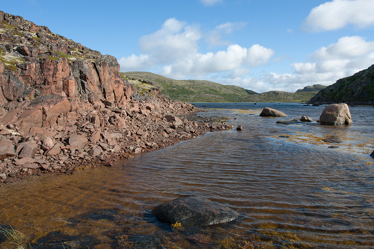
<instances>
[{"instance_id":1,"label":"rippled brown and blue water around the boulders","mask_svg":"<svg viewBox=\"0 0 374 249\"><path fill-rule=\"evenodd\" d=\"M344 127L275 124L322 112L301 108L279 106L289 117L278 119L259 117L260 109L211 110L204 115L236 117L230 122L244 130L0 189L0 223L34 248L374 248L373 108L351 108L356 120ZM329 149L326 136L344 143ZM183 196L226 204L240 217L173 229L152 215Z\"/></svg>"}]
</instances>

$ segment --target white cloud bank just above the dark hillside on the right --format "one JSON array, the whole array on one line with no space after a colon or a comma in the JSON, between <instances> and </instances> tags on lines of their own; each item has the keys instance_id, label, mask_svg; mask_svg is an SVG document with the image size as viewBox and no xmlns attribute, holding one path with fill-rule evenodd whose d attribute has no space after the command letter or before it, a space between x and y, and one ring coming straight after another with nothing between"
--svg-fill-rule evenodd
<instances>
[{"instance_id":1,"label":"white cloud bank just above the dark hillside on the right","mask_svg":"<svg viewBox=\"0 0 374 249\"><path fill-rule=\"evenodd\" d=\"M374 63L374 42L359 36L341 37L337 43L316 50L309 60L314 62L292 63L294 74L272 72L263 75L261 80L271 85L273 90L291 92L305 85L334 84L338 79L353 75Z\"/></svg>"}]
</instances>

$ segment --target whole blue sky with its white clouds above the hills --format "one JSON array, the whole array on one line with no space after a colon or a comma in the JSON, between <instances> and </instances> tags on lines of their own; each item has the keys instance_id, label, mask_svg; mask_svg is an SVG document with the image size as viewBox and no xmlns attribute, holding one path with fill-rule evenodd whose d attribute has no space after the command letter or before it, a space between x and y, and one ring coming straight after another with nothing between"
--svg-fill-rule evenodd
<instances>
[{"instance_id":1,"label":"whole blue sky with its white clouds above the hills","mask_svg":"<svg viewBox=\"0 0 374 249\"><path fill-rule=\"evenodd\" d=\"M121 72L210 80L264 92L330 85L374 64L374 0L1 3Z\"/></svg>"}]
</instances>

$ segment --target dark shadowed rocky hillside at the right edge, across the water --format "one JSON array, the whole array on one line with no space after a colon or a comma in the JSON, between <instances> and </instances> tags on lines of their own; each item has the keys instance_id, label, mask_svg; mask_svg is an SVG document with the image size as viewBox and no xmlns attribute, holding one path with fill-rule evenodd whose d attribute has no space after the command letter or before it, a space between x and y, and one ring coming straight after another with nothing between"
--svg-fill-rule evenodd
<instances>
[{"instance_id":1,"label":"dark shadowed rocky hillside at the right edge, across the water","mask_svg":"<svg viewBox=\"0 0 374 249\"><path fill-rule=\"evenodd\" d=\"M374 105L374 65L320 90L307 103Z\"/></svg>"}]
</instances>

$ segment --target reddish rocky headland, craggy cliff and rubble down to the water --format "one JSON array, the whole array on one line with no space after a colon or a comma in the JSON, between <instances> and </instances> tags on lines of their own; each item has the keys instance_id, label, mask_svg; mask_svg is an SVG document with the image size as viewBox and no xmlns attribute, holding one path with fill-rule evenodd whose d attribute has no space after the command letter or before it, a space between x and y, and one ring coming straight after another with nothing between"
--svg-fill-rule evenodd
<instances>
[{"instance_id":1,"label":"reddish rocky headland, craggy cliff and rubble down to the water","mask_svg":"<svg viewBox=\"0 0 374 249\"><path fill-rule=\"evenodd\" d=\"M0 85L0 186L111 166L232 128L193 117L202 110L152 84L125 79L113 56L2 11Z\"/></svg>"}]
</instances>

